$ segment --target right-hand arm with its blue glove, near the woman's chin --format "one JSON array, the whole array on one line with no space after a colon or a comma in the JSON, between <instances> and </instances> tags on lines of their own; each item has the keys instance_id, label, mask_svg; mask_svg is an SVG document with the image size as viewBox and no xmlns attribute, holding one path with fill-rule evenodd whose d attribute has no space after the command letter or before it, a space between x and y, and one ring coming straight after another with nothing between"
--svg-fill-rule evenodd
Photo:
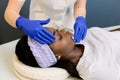
<instances>
[{"instance_id":1,"label":"right-hand arm with its blue glove, near the woman's chin","mask_svg":"<svg viewBox=\"0 0 120 80\"><path fill-rule=\"evenodd\" d=\"M78 43L85 39L87 33L86 2L87 0L77 0L74 5L74 40Z\"/></svg>"}]
</instances>

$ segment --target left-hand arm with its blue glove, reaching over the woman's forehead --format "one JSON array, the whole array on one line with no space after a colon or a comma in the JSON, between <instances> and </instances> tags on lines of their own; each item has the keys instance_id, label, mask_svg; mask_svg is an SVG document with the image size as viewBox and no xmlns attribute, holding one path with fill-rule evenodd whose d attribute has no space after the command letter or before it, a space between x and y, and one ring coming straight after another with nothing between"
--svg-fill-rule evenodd
<instances>
[{"instance_id":1,"label":"left-hand arm with its blue glove, reaching over the woman's forehead","mask_svg":"<svg viewBox=\"0 0 120 80\"><path fill-rule=\"evenodd\" d=\"M23 30L28 36L35 39L41 44L50 44L55 40L43 25L48 24L50 19L47 20L29 20L20 16L19 12L25 0L9 0L8 6L5 11L5 20L13 27ZM29 23L29 24L28 24Z\"/></svg>"}]
</instances>

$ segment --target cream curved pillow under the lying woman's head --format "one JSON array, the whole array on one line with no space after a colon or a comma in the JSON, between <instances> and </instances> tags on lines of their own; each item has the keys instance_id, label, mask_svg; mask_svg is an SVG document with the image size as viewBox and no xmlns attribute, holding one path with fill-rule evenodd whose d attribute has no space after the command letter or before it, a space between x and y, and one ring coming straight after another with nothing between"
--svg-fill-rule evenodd
<instances>
[{"instance_id":1,"label":"cream curved pillow under the lying woman's head","mask_svg":"<svg viewBox=\"0 0 120 80\"><path fill-rule=\"evenodd\" d=\"M16 55L13 56L13 66L16 75L21 80L65 80L70 75L62 68L35 68L21 63Z\"/></svg>"}]
</instances>

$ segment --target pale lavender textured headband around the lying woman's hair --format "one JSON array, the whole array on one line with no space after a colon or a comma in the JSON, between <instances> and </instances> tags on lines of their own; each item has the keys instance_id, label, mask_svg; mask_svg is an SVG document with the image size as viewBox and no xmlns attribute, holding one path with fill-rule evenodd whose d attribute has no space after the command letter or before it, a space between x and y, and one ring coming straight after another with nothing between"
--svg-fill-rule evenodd
<instances>
[{"instance_id":1,"label":"pale lavender textured headband around the lying woman's hair","mask_svg":"<svg viewBox=\"0 0 120 80\"><path fill-rule=\"evenodd\" d=\"M57 63L54 53L47 44L40 44L28 37L28 45L40 67L46 68Z\"/></svg>"}]
</instances>

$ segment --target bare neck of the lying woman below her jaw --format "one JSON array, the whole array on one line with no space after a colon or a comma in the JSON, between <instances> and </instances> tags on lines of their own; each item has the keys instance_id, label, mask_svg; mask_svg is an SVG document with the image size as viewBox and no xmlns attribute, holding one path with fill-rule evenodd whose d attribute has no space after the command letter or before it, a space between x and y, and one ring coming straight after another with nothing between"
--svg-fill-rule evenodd
<instances>
[{"instance_id":1,"label":"bare neck of the lying woman below her jaw","mask_svg":"<svg viewBox=\"0 0 120 80\"><path fill-rule=\"evenodd\" d=\"M81 44L75 45L73 51L70 53L71 54L70 61L73 62L75 65L77 65L78 61L83 55L83 52L84 52L83 45Z\"/></svg>"}]
</instances>

